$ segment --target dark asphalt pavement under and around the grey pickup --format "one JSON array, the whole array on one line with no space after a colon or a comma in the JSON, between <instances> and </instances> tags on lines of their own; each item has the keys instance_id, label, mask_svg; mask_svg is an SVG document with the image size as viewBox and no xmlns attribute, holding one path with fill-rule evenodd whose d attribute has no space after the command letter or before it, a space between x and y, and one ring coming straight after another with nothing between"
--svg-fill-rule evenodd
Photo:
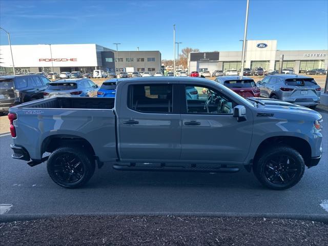
<instances>
[{"instance_id":1,"label":"dark asphalt pavement under and around the grey pickup","mask_svg":"<svg viewBox=\"0 0 328 246\"><path fill-rule=\"evenodd\" d=\"M121 172L105 165L87 186L68 190L50 179L45 163L11 158L10 135L0 137L0 213L222 212L328 213L328 113L317 167L285 191L263 188L253 173ZM6 204L6 205L4 205Z\"/></svg>"}]
</instances>

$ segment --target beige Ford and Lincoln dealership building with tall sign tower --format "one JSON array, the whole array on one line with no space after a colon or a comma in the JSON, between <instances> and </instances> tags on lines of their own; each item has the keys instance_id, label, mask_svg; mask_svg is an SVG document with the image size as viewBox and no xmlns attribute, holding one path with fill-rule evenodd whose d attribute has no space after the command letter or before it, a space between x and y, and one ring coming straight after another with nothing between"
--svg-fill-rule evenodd
<instances>
[{"instance_id":1,"label":"beige Ford and Lincoln dealership building with tall sign tower","mask_svg":"<svg viewBox=\"0 0 328 246\"><path fill-rule=\"evenodd\" d=\"M328 50L277 50L277 40L247 40L245 68L279 70L283 55L282 68L293 68L295 73L328 66ZM189 71L239 70L241 51L192 52L188 58Z\"/></svg>"}]
</instances>

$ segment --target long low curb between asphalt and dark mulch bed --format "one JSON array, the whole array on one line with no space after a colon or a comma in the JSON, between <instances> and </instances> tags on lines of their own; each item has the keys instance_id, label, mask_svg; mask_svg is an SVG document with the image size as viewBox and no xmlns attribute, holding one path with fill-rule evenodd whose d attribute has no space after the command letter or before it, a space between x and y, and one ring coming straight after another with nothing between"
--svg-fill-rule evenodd
<instances>
[{"instance_id":1,"label":"long low curb between asphalt and dark mulch bed","mask_svg":"<svg viewBox=\"0 0 328 246\"><path fill-rule=\"evenodd\" d=\"M217 212L114 212L69 214L2 214L0 222L26 221L66 216L201 216L310 220L328 224L328 214L217 213Z\"/></svg>"}]
</instances>

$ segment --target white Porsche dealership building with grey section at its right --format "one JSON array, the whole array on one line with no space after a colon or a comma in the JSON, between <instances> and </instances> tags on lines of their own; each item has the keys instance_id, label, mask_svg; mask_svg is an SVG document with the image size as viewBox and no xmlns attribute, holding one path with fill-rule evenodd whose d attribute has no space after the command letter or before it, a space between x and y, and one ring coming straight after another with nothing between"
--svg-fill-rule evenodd
<instances>
[{"instance_id":1,"label":"white Porsche dealership building with grey section at its right","mask_svg":"<svg viewBox=\"0 0 328 246\"><path fill-rule=\"evenodd\" d=\"M107 72L160 70L159 51L118 51L96 44L72 45L12 45L15 71L90 73L100 69ZM0 46L0 72L12 73L10 47Z\"/></svg>"}]
</instances>

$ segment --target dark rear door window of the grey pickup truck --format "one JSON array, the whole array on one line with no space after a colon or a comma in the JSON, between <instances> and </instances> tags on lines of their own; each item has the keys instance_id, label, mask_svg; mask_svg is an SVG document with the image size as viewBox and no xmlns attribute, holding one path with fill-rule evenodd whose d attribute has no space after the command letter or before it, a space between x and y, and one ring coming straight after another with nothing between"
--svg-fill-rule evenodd
<instances>
[{"instance_id":1,"label":"dark rear door window of the grey pickup truck","mask_svg":"<svg viewBox=\"0 0 328 246\"><path fill-rule=\"evenodd\" d=\"M170 113L173 106L172 85L131 85L128 106L145 113Z\"/></svg>"}]
</instances>

